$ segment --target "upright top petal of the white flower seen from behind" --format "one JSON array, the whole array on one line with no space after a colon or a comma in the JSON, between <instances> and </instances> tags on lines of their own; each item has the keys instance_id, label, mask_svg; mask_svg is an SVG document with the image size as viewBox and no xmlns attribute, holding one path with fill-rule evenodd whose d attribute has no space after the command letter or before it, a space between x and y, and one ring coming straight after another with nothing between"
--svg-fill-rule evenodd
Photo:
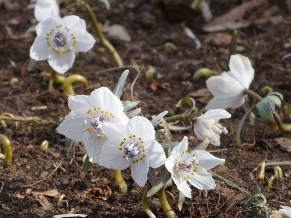
<instances>
[{"instance_id":1,"label":"upright top petal of the white flower seen from behind","mask_svg":"<svg viewBox=\"0 0 291 218\"><path fill-rule=\"evenodd\" d=\"M237 81L239 81L244 88L248 89L255 74L250 59L241 54L232 55L229 60L229 68L237 78Z\"/></svg>"}]
</instances>

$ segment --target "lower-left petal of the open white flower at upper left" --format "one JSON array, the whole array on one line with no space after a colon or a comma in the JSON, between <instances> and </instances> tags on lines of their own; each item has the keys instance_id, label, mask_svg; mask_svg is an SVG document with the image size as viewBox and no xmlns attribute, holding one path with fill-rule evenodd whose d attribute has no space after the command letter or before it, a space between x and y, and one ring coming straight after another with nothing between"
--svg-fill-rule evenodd
<instances>
[{"instance_id":1,"label":"lower-left petal of the open white flower at upper left","mask_svg":"<svg viewBox=\"0 0 291 218\"><path fill-rule=\"evenodd\" d=\"M47 60L52 57L51 53L52 48L47 46L47 40L38 36L30 48L29 56L34 60Z\"/></svg>"}]
</instances>

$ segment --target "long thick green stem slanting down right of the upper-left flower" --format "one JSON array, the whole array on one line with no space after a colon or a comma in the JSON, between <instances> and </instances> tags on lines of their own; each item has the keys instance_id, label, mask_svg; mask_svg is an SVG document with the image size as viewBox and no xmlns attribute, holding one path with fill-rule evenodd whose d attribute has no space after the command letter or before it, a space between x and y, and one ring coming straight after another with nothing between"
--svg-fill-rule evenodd
<instances>
[{"instance_id":1,"label":"long thick green stem slanting down right of the upper-left flower","mask_svg":"<svg viewBox=\"0 0 291 218\"><path fill-rule=\"evenodd\" d=\"M119 54L117 53L117 51L115 50L115 48L113 47L113 45L111 45L111 43L105 38L105 36L103 35L102 31L100 30L99 25L98 25L97 18L95 16L92 8L87 3L84 3L84 7L87 10L87 13L89 15L89 18L93 22L93 26L95 28L95 31L96 31L97 35L98 35L98 38L100 39L100 42L111 53L113 59L117 63L117 66L118 67L123 67L123 62L122 62Z\"/></svg>"}]
</instances>

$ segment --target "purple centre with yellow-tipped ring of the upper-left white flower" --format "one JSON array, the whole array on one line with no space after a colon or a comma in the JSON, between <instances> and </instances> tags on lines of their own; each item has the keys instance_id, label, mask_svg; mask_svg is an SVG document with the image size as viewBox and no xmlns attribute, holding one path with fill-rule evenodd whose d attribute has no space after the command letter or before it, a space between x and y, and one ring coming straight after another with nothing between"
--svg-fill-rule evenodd
<instances>
[{"instance_id":1,"label":"purple centre with yellow-tipped ring of the upper-left white flower","mask_svg":"<svg viewBox=\"0 0 291 218\"><path fill-rule=\"evenodd\" d=\"M70 34L70 29L67 27L63 28L62 25L58 25L56 28L56 31L51 29L47 33L47 46L50 47L52 44L52 50L58 54L65 54L72 51L76 45L76 37L74 37L74 34Z\"/></svg>"}]
</instances>

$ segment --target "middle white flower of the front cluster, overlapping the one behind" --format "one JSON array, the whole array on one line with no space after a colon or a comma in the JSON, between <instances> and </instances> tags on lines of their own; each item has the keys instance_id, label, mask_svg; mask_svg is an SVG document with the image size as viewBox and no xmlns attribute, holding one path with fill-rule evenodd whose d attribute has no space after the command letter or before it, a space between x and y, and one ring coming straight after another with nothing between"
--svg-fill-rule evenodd
<instances>
[{"instance_id":1,"label":"middle white flower of the front cluster, overlapping the one behind","mask_svg":"<svg viewBox=\"0 0 291 218\"><path fill-rule=\"evenodd\" d=\"M157 168L166 161L162 146L155 140L155 130L145 117L135 116L125 124L104 124L108 141L104 144L99 165L109 169L126 169L139 186L147 181L149 167Z\"/></svg>"}]
</instances>

